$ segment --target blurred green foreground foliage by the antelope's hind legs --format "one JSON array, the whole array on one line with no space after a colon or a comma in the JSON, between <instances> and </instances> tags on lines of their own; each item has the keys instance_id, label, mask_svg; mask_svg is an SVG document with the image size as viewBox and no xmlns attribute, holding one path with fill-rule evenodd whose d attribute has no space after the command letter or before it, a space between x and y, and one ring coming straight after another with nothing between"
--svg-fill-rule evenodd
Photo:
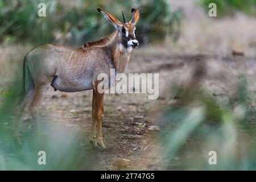
<instances>
[{"instance_id":1,"label":"blurred green foreground foliage by the antelope's hind legs","mask_svg":"<svg viewBox=\"0 0 256 182\"><path fill-rule=\"evenodd\" d=\"M14 139L16 122L16 101L20 82L15 78L5 94L0 97L0 171L2 170L74 170L90 165L86 151L79 155L76 133L57 128L56 125L42 125L41 134L36 135L31 123L20 131L22 145ZM54 123L54 122L53 122ZM49 132L49 133L48 133ZM46 152L46 165L39 165L39 151ZM52 162L54 161L54 162Z\"/></svg>"}]
</instances>

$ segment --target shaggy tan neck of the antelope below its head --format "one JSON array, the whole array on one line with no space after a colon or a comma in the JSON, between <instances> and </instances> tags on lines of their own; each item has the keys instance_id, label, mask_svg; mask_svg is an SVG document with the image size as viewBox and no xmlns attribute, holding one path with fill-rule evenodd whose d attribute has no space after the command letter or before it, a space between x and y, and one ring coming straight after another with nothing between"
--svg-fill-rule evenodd
<instances>
[{"instance_id":1,"label":"shaggy tan neck of the antelope below its head","mask_svg":"<svg viewBox=\"0 0 256 182\"><path fill-rule=\"evenodd\" d=\"M118 73L125 72L131 57L133 48L125 47L122 44L122 39L118 33L115 35L112 43L112 57L114 60L115 69Z\"/></svg>"}]
</instances>

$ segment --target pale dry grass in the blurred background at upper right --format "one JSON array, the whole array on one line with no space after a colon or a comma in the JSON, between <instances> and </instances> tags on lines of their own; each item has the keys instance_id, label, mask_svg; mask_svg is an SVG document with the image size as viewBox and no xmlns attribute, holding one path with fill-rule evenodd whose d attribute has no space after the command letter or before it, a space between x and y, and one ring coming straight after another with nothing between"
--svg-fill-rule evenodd
<instances>
[{"instance_id":1,"label":"pale dry grass in the blurred background at upper right","mask_svg":"<svg viewBox=\"0 0 256 182\"><path fill-rule=\"evenodd\" d=\"M172 9L182 9L184 15L180 39L177 43L166 41L170 53L229 55L232 49L241 49L247 56L256 55L255 18L243 14L223 19L210 18L195 0L170 2Z\"/></svg>"}]
</instances>

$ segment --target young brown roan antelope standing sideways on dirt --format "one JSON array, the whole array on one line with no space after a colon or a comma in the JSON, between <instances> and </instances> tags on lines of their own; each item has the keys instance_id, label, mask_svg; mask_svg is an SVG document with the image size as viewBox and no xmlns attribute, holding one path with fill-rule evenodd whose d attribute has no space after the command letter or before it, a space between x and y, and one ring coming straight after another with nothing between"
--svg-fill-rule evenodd
<instances>
[{"instance_id":1,"label":"young brown roan antelope standing sideways on dirt","mask_svg":"<svg viewBox=\"0 0 256 182\"><path fill-rule=\"evenodd\" d=\"M100 82L97 76L100 73L110 76L112 68L116 73L125 71L132 49L139 45L135 39L135 24L139 19L139 11L131 9L133 16L130 22L127 22L122 12L121 23L100 7L97 10L115 27L115 31L109 36L96 42L85 43L79 48L45 44L32 49L24 57L23 92L17 110L20 118L24 107L29 104L32 121L35 121L36 129L39 130L38 107L50 86L61 92L93 89L90 142L93 148L105 150L102 137L104 93L97 91ZM20 119L15 123L14 131L15 138L20 142L19 125Z\"/></svg>"}]
</instances>

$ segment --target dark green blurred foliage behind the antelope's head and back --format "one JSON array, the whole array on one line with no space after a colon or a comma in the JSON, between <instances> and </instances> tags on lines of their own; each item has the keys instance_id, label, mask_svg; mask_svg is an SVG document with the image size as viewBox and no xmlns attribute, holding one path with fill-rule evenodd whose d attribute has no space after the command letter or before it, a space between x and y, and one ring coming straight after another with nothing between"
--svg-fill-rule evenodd
<instances>
[{"instance_id":1,"label":"dark green blurred foliage behind the antelope's head and back","mask_svg":"<svg viewBox=\"0 0 256 182\"><path fill-rule=\"evenodd\" d=\"M38 16L38 4L41 2L46 3L46 17ZM130 19L131 7L139 9L141 19L137 24L137 37L144 44L153 40L162 41L167 34L174 32L174 29L179 29L181 11L172 13L170 5L165 0L1 0L0 42L61 42L81 46L84 42L99 39L114 30L98 13L98 6L117 16L121 21L121 10ZM68 41L61 41L67 37Z\"/></svg>"}]
</instances>

